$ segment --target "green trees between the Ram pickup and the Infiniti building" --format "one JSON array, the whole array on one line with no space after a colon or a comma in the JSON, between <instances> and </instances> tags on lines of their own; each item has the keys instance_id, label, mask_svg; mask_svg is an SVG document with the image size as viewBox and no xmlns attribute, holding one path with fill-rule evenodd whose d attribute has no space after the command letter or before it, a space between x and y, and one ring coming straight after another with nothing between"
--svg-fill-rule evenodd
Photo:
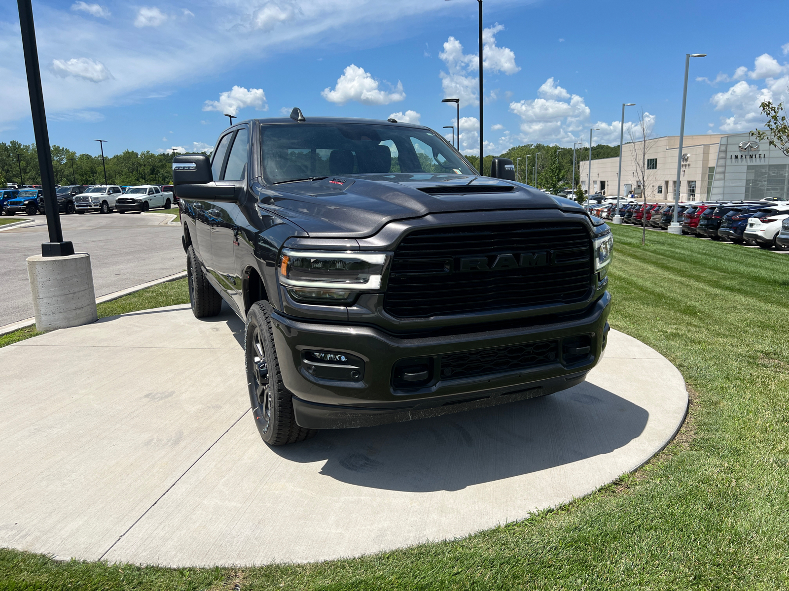
<instances>
[{"instance_id":1,"label":"green trees between the Ram pickup and the Infiniti building","mask_svg":"<svg viewBox=\"0 0 789 591\"><path fill-rule=\"evenodd\" d=\"M537 155L537 153L540 153ZM527 158L528 161L527 161ZM616 158L619 156L619 146L608 146L604 143L592 147L592 159ZM479 170L480 158L477 156L466 156ZM484 175L490 174L491 162L495 158L492 155L485 156ZM512 162L521 162L518 165L518 180L525 184L540 189L548 189L552 193L561 191L571 185L573 177L573 149L560 146L548 146L545 143L527 143L523 146L511 147L498 158L510 158ZM589 148L577 148L575 151L575 186L580 183L581 161L589 160ZM527 165L528 162L528 165ZM537 178L535 179L535 162L537 164Z\"/></svg>"}]
</instances>

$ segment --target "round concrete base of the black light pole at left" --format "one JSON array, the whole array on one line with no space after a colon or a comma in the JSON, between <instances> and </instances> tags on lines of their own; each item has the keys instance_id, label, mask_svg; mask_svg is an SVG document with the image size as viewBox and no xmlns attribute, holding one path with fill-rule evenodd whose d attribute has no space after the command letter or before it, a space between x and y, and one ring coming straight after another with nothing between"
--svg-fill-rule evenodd
<instances>
[{"instance_id":1,"label":"round concrete base of the black light pole at left","mask_svg":"<svg viewBox=\"0 0 789 591\"><path fill-rule=\"evenodd\" d=\"M28 257L36 330L65 329L98 320L91 256Z\"/></svg>"}]
</instances>

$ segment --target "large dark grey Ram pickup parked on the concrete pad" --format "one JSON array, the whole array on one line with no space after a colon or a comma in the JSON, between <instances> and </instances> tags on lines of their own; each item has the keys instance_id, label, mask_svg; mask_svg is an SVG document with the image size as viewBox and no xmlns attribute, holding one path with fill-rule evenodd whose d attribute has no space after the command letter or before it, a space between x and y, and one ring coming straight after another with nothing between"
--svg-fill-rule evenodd
<instances>
[{"instance_id":1,"label":"large dark grey Ram pickup parked on the concrete pad","mask_svg":"<svg viewBox=\"0 0 789 591\"><path fill-rule=\"evenodd\" d=\"M576 385L608 335L608 226L392 121L250 120L173 160L189 300L245 322L267 444ZM241 370L241 368L239 368Z\"/></svg>"}]
</instances>

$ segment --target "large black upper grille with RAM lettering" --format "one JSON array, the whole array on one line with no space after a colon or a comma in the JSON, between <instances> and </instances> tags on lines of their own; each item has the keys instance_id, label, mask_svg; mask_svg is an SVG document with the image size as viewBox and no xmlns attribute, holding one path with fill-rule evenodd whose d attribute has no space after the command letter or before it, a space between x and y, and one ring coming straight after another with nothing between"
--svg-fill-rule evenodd
<instances>
[{"instance_id":1,"label":"large black upper grille with RAM lettering","mask_svg":"<svg viewBox=\"0 0 789 591\"><path fill-rule=\"evenodd\" d=\"M487 264L468 269L474 258ZM503 263L494 270L497 261ZM512 261L517 268L507 268ZM399 318L428 318L580 302L591 288L592 265L592 240L581 224L417 230L394 252L383 307Z\"/></svg>"}]
</instances>

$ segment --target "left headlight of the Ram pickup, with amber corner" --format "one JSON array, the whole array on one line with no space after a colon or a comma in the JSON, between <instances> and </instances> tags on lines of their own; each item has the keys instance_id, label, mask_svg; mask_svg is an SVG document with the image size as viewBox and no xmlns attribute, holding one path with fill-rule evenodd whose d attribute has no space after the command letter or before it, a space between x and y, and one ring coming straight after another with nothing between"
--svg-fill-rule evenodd
<instances>
[{"instance_id":1,"label":"left headlight of the Ram pickup, with amber corner","mask_svg":"<svg viewBox=\"0 0 789 591\"><path fill-rule=\"evenodd\" d=\"M381 288L389 255L367 252L308 252L283 249L279 282L302 300L343 303L357 292Z\"/></svg>"}]
</instances>

